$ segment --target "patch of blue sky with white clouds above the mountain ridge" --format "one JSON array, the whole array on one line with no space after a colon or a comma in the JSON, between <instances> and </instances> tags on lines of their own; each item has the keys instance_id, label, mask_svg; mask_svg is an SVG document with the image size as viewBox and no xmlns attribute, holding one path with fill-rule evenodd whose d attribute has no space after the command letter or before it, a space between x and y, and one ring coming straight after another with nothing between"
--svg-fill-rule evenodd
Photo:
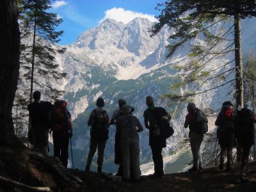
<instances>
[{"instance_id":1,"label":"patch of blue sky with white clouds above the mountain ridge","mask_svg":"<svg viewBox=\"0 0 256 192\"><path fill-rule=\"evenodd\" d=\"M96 27L107 18L129 22L136 16L154 20L154 10L163 0L65 0L52 1L50 12L63 19L57 30L65 31L61 45L71 44L84 31Z\"/></svg>"}]
</instances>

